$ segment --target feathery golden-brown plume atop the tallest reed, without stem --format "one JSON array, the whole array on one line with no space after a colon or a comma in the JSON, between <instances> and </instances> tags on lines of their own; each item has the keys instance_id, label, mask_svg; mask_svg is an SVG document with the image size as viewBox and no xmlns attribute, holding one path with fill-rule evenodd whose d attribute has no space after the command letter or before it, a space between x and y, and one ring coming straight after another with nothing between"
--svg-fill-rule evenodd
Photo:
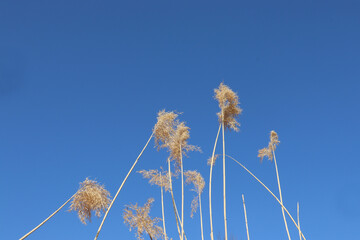
<instances>
[{"instance_id":1,"label":"feathery golden-brown plume atop the tallest reed, without stem","mask_svg":"<svg viewBox=\"0 0 360 240\"><path fill-rule=\"evenodd\" d=\"M239 131L238 126L240 126L240 123L236 121L236 117L242 112L242 109L238 106L239 97L223 83L220 83L219 88L215 89L214 92L215 99L218 100L221 109L217 113L219 122L224 122L225 128Z\"/></svg>"}]
</instances>

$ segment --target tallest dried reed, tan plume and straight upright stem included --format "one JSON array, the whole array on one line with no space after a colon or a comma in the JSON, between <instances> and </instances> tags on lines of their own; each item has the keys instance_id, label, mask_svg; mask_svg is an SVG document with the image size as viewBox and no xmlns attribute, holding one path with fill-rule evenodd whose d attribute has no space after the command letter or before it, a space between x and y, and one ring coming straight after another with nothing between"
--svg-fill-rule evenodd
<instances>
[{"instance_id":1,"label":"tallest dried reed, tan plume and straight upright stem included","mask_svg":"<svg viewBox=\"0 0 360 240\"><path fill-rule=\"evenodd\" d=\"M224 202L224 226L225 226L225 240L228 240L227 234L227 218L226 218L226 174L225 174L225 128L239 131L236 117L242 112L239 105L239 98L228 86L220 83L218 89L215 89L215 99L219 102L221 111L217 113L219 122L222 125L222 140L223 140L223 202Z\"/></svg>"}]
</instances>

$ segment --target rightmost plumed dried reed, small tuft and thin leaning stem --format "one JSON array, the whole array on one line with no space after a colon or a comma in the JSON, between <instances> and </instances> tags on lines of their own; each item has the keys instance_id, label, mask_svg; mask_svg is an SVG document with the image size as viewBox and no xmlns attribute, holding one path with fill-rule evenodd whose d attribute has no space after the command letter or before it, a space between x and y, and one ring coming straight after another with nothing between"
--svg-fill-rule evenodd
<instances>
[{"instance_id":1,"label":"rightmost plumed dried reed, small tuft and thin leaning stem","mask_svg":"<svg viewBox=\"0 0 360 240\"><path fill-rule=\"evenodd\" d=\"M279 137L278 137L277 133L275 131L271 131L270 132L270 142L268 144L268 147L260 149L258 157L260 157L260 161L262 161L262 159L264 157L267 157L270 161L272 161L274 159L275 170L276 170L276 178L277 178L278 188L279 188L280 201L282 203L283 199L282 199L282 193L281 193L279 171L278 171L278 167L277 167L277 163L276 163L276 157L275 157L275 149L276 149L277 145L279 145L279 143L280 143L280 141L279 141ZM281 212L282 212L282 215L283 215L287 236L288 236L289 240L291 240L290 233L289 233L289 228L287 226L286 216L285 216L283 208L281 208Z\"/></svg>"}]
</instances>

